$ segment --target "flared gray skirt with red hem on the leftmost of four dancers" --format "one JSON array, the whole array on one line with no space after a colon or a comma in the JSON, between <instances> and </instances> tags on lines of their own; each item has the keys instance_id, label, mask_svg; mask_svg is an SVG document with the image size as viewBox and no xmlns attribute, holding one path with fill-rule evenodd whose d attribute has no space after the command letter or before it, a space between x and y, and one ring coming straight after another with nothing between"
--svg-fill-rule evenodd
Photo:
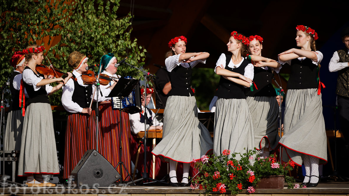
<instances>
[{"instance_id":1,"label":"flared gray skirt with red hem on the leftmost of four dancers","mask_svg":"<svg viewBox=\"0 0 349 196\"><path fill-rule=\"evenodd\" d=\"M194 96L170 96L164 110L162 140L151 153L168 162L169 159L191 163L213 148L211 135L198 120Z\"/></svg>"}]
</instances>

